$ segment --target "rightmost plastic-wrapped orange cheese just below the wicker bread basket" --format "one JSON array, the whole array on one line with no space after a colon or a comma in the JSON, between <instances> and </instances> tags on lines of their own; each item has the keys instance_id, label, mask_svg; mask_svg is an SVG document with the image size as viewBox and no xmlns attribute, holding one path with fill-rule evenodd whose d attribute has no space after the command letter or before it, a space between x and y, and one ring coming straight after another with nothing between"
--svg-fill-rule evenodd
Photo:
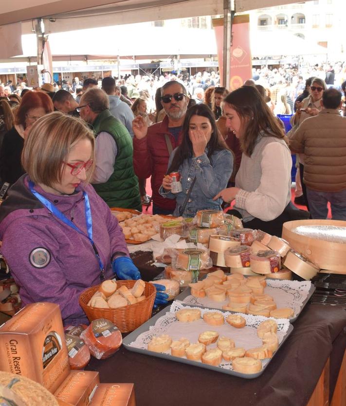
<instances>
[{"instance_id":1,"label":"rightmost plastic-wrapped orange cheese just below the wicker bread basket","mask_svg":"<svg viewBox=\"0 0 346 406\"><path fill-rule=\"evenodd\" d=\"M106 318L98 318L81 334L91 355L97 359L105 359L119 350L123 342L120 331Z\"/></svg>"}]
</instances>

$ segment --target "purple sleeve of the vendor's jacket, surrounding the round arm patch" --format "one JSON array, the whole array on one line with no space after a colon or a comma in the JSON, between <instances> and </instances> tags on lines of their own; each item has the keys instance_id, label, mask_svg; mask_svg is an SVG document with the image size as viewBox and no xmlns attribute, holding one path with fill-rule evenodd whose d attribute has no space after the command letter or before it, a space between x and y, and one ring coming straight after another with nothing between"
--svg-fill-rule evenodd
<instances>
[{"instance_id":1,"label":"purple sleeve of the vendor's jacket, surrounding the round arm patch","mask_svg":"<svg viewBox=\"0 0 346 406\"><path fill-rule=\"evenodd\" d=\"M80 290L69 286L64 269L55 257L55 252L59 252L58 242L46 232L44 224L40 227L37 222L34 227L28 221L20 221L18 227L18 223L12 222L6 230L1 252L11 266L12 276L21 287L23 303L50 301L60 305L62 318L84 317L78 304ZM31 264L30 253L33 247L44 247L49 251L48 265L36 268Z\"/></svg>"}]
</instances>

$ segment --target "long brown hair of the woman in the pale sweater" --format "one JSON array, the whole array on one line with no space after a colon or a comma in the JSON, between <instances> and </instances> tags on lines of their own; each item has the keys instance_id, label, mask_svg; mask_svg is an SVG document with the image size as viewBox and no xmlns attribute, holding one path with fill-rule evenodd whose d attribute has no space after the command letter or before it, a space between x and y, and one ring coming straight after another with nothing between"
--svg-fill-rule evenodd
<instances>
[{"instance_id":1,"label":"long brown hair of the woman in the pale sweater","mask_svg":"<svg viewBox=\"0 0 346 406\"><path fill-rule=\"evenodd\" d=\"M240 117L244 135L239 141L243 153L248 157L254 151L260 131L288 143L285 131L254 86L242 86L231 92L223 101L234 108Z\"/></svg>"}]
</instances>

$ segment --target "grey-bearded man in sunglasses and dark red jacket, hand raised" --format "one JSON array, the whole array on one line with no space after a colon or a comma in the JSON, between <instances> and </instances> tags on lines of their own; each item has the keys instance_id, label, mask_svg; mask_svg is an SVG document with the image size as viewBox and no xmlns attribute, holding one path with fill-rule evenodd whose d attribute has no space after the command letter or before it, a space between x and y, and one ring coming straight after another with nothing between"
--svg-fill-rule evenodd
<instances>
[{"instance_id":1,"label":"grey-bearded man in sunglasses and dark red jacket, hand raised","mask_svg":"<svg viewBox=\"0 0 346 406\"><path fill-rule=\"evenodd\" d=\"M133 120L134 170L138 177L151 176L153 214L172 214L175 209L175 201L162 197L159 189L167 171L169 156L182 141L182 124L188 103L184 86L172 80L161 88L161 104L166 113L164 120L149 127L142 116Z\"/></svg>"}]
</instances>

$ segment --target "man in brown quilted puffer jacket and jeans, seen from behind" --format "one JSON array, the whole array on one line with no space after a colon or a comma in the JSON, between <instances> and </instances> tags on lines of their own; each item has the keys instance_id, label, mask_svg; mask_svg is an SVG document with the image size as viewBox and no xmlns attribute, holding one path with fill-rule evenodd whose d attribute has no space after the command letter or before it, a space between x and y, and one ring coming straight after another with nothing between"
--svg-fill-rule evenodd
<instances>
[{"instance_id":1,"label":"man in brown quilted puffer jacket and jeans, seen from behind","mask_svg":"<svg viewBox=\"0 0 346 406\"><path fill-rule=\"evenodd\" d=\"M330 202L333 220L346 220L346 117L341 93L323 92L322 110L304 120L290 141L292 152L305 154L304 182L312 218L325 219Z\"/></svg>"}]
</instances>

